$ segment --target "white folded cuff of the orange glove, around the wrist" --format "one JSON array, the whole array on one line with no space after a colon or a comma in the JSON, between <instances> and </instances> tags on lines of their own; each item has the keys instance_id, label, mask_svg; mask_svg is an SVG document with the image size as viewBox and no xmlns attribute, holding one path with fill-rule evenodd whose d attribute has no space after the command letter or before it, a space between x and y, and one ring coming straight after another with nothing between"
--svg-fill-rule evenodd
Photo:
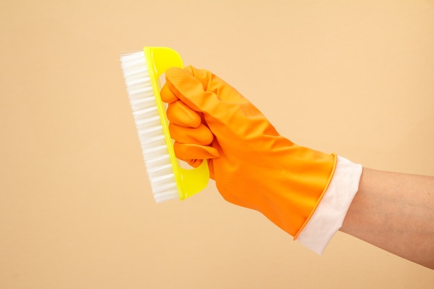
<instances>
[{"instance_id":1,"label":"white folded cuff of the orange glove, around the wrist","mask_svg":"<svg viewBox=\"0 0 434 289\"><path fill-rule=\"evenodd\" d=\"M317 254L322 254L336 231L342 227L351 202L358 191L362 166L338 156L329 188L311 220L297 240Z\"/></svg>"}]
</instances>

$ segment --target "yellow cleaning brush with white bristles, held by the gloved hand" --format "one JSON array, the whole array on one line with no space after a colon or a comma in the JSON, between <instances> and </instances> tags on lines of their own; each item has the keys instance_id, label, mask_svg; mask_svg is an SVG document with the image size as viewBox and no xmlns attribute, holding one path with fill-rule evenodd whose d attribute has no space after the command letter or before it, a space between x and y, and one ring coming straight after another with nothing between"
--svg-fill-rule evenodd
<instances>
[{"instance_id":1,"label":"yellow cleaning brush with white bristles, held by the gloved hand","mask_svg":"<svg viewBox=\"0 0 434 289\"><path fill-rule=\"evenodd\" d=\"M207 161L198 168L182 168L159 94L163 73L170 67L183 67L180 55L166 47L145 46L143 51L121 55L121 67L155 202L184 200L205 189Z\"/></svg>"}]
</instances>

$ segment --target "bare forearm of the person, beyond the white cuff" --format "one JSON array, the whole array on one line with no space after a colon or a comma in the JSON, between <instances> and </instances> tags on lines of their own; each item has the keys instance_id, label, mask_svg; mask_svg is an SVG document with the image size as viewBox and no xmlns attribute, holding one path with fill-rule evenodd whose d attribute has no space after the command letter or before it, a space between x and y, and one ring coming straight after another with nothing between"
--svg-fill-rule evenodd
<instances>
[{"instance_id":1,"label":"bare forearm of the person, beyond the white cuff","mask_svg":"<svg viewBox=\"0 0 434 289\"><path fill-rule=\"evenodd\" d=\"M364 168L340 231L434 269L434 177Z\"/></svg>"}]
</instances>

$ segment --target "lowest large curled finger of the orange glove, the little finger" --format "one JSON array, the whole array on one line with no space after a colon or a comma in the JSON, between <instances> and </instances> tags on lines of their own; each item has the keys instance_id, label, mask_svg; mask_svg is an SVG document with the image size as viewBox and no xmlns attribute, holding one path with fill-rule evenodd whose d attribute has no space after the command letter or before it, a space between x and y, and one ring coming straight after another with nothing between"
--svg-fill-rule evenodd
<instances>
[{"instance_id":1,"label":"lowest large curled finger of the orange glove, the little finger","mask_svg":"<svg viewBox=\"0 0 434 289\"><path fill-rule=\"evenodd\" d=\"M218 150L212 146L200 146L191 143L178 143L175 141L173 150L178 159L187 161L189 164L198 159L214 159L219 157Z\"/></svg>"}]
</instances>

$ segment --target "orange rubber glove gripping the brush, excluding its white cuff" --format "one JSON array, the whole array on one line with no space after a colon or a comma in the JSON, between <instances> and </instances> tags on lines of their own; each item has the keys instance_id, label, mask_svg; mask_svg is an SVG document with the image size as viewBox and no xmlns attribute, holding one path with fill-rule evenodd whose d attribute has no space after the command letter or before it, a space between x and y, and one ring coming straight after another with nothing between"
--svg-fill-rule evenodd
<instances>
[{"instance_id":1,"label":"orange rubber glove gripping the brush, excluding its white cuff","mask_svg":"<svg viewBox=\"0 0 434 289\"><path fill-rule=\"evenodd\" d=\"M225 200L263 213L297 237L327 190L336 155L281 137L257 107L209 71L166 71L175 155L198 166L207 159Z\"/></svg>"}]
</instances>

